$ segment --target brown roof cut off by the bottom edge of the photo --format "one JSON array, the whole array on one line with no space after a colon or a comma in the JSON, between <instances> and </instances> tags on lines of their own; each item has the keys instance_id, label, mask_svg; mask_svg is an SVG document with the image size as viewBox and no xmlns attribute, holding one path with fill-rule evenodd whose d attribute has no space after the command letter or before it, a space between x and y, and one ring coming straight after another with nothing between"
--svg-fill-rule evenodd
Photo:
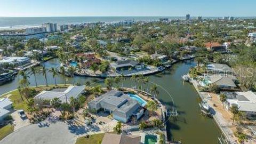
<instances>
[{"instance_id":1,"label":"brown roof cut off by the bottom edge of the photo","mask_svg":"<svg viewBox=\"0 0 256 144\"><path fill-rule=\"evenodd\" d=\"M105 133L101 144L140 144L141 136Z\"/></svg>"}]
</instances>

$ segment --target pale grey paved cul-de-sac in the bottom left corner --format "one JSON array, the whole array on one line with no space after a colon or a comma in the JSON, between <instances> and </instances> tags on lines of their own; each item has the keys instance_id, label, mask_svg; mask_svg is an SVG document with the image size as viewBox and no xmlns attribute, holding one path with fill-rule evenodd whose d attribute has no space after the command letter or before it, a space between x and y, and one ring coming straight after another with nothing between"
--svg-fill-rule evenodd
<instances>
[{"instance_id":1,"label":"pale grey paved cul-de-sac in the bottom left corner","mask_svg":"<svg viewBox=\"0 0 256 144\"><path fill-rule=\"evenodd\" d=\"M76 131L80 129L80 133ZM82 131L81 131L82 129ZM1 144L70 144L75 143L75 140L79 134L86 133L83 131L83 127L73 127L67 123L46 123L42 125L32 124L11 133L5 137Z\"/></svg>"}]
</instances>

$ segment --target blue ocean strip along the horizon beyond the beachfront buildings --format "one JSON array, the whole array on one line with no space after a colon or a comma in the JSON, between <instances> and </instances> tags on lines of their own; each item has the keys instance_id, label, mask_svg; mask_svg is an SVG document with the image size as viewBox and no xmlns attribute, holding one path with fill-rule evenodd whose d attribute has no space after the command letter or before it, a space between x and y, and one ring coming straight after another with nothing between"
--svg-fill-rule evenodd
<instances>
[{"instance_id":1,"label":"blue ocean strip along the horizon beyond the beachfront buildings","mask_svg":"<svg viewBox=\"0 0 256 144\"><path fill-rule=\"evenodd\" d=\"M43 23L75 24L85 22L113 22L113 21L154 21L159 18L184 19L185 17L0 17L0 30L23 29L39 27Z\"/></svg>"}]
</instances>

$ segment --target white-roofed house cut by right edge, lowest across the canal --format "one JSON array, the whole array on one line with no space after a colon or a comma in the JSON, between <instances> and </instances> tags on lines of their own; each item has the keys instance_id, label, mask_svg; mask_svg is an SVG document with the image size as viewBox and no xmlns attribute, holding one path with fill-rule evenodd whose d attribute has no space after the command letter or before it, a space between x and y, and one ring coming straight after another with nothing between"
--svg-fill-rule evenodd
<instances>
[{"instance_id":1,"label":"white-roofed house cut by right edge, lowest across the canal","mask_svg":"<svg viewBox=\"0 0 256 144\"><path fill-rule=\"evenodd\" d=\"M247 92L221 92L227 97L227 109L237 106L239 111L244 111L247 116L256 117L256 93Z\"/></svg>"}]
</instances>

